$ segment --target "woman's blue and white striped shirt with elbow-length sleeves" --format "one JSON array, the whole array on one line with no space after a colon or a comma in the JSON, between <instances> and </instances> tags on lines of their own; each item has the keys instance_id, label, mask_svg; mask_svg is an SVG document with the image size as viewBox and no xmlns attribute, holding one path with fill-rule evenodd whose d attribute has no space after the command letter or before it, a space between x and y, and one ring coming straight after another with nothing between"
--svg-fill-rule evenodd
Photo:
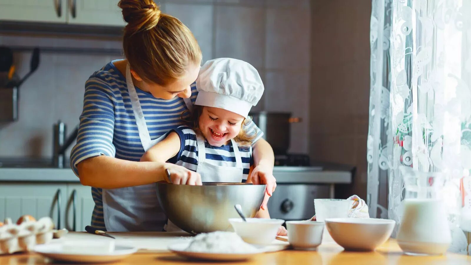
<instances>
[{"instance_id":1,"label":"woman's blue and white striped shirt with elbow-length sleeves","mask_svg":"<svg viewBox=\"0 0 471 265\"><path fill-rule=\"evenodd\" d=\"M156 99L138 87L136 91L151 140L182 124L181 114L187 110L183 99ZM193 103L197 93L196 84L193 83L190 97ZM246 130L256 135L255 140L263 134L253 123L248 124ZM139 161L143 154L126 78L110 62L93 73L85 83L77 143L70 155L73 172L78 176L77 164L89 157L105 155ZM95 201L91 225L106 229L102 189L92 187L91 195Z\"/></svg>"}]
</instances>

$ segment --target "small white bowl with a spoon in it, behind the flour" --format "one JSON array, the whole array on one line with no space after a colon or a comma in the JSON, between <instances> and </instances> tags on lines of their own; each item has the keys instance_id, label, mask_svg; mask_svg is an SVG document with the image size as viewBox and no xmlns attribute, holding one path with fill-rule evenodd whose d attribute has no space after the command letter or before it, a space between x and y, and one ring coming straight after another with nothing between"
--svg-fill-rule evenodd
<instances>
[{"instance_id":1,"label":"small white bowl with a spoon in it, behind the flour","mask_svg":"<svg viewBox=\"0 0 471 265\"><path fill-rule=\"evenodd\" d=\"M284 220L265 218L230 218L234 231L247 243L269 245L276 239L276 232Z\"/></svg>"}]
</instances>

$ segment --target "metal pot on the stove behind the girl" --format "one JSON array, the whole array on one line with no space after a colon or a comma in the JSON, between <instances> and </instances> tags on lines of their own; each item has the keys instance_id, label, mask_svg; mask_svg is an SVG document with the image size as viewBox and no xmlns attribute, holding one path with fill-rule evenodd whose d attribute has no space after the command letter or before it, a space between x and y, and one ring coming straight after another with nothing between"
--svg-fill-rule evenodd
<instances>
[{"instance_id":1,"label":"metal pot on the stove behind the girl","mask_svg":"<svg viewBox=\"0 0 471 265\"><path fill-rule=\"evenodd\" d=\"M300 118L292 118L291 112L251 112L249 116L264 132L263 138L270 143L275 155L284 155L290 148L291 123L298 123Z\"/></svg>"}]
</instances>

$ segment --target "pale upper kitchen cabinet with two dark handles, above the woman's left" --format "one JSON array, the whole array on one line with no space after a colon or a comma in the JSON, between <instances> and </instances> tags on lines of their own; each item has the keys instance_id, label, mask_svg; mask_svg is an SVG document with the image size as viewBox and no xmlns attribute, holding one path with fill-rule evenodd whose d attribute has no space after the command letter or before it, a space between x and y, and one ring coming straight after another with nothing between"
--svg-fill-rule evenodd
<instances>
[{"instance_id":1,"label":"pale upper kitchen cabinet with two dark handles, above the woman's left","mask_svg":"<svg viewBox=\"0 0 471 265\"><path fill-rule=\"evenodd\" d=\"M2 0L0 20L124 26L118 0Z\"/></svg>"}]
</instances>

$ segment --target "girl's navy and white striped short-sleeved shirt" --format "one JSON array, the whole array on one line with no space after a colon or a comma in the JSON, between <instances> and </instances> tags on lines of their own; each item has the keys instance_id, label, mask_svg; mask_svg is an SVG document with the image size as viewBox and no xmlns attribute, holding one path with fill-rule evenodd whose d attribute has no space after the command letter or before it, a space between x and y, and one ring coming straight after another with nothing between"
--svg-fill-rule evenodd
<instances>
[{"instance_id":1,"label":"girl's navy and white striped short-sleeved shirt","mask_svg":"<svg viewBox=\"0 0 471 265\"><path fill-rule=\"evenodd\" d=\"M172 157L169 162L196 171L199 159L195 131L187 126L180 126L173 129L173 131L177 132L180 137L180 151L175 157ZM204 147L207 163L214 166L236 166L232 143L229 142L227 145L216 147L210 145L205 139ZM242 182L245 182L249 176L250 166L253 164L252 147L238 146L238 149L242 158L242 167L244 168ZM203 178L203 182L205 182L204 176L201 177ZM224 182L224 180L220 180L220 182Z\"/></svg>"}]
</instances>

